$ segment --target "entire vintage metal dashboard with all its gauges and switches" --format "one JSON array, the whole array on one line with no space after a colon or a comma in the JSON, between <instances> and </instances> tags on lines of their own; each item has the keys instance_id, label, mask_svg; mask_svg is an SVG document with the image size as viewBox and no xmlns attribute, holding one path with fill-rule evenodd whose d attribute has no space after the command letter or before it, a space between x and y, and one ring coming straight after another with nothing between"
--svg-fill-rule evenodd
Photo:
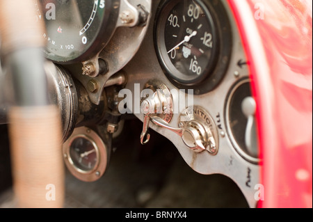
<instances>
[{"instance_id":1,"label":"entire vintage metal dashboard with all its gauges and switches","mask_svg":"<svg viewBox=\"0 0 313 222\"><path fill-rule=\"evenodd\" d=\"M255 102L226 0L37 0L65 164L80 180L106 170L125 113L170 140L186 164L223 174L250 207L259 184Z\"/></svg>"}]
</instances>

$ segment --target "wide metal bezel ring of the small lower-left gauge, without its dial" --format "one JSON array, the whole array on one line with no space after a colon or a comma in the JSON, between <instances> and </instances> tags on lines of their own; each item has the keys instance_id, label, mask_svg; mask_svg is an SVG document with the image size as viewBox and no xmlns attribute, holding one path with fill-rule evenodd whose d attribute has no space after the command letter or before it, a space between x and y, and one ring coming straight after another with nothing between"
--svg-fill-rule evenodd
<instances>
[{"instance_id":1,"label":"wide metal bezel ring of the small lower-left gauge, without its dial","mask_svg":"<svg viewBox=\"0 0 313 222\"><path fill-rule=\"evenodd\" d=\"M77 138L85 138L93 144L96 150L97 161L93 169L90 171L84 171L78 166L76 166L70 155L70 148L73 141ZM85 182L93 182L98 180L104 174L107 166L108 153L106 150L106 145L104 144L102 138L95 131L88 127L79 127L74 129L74 132L70 138L63 144L63 159L67 169L77 177L77 179Z\"/></svg>"}]
</instances>

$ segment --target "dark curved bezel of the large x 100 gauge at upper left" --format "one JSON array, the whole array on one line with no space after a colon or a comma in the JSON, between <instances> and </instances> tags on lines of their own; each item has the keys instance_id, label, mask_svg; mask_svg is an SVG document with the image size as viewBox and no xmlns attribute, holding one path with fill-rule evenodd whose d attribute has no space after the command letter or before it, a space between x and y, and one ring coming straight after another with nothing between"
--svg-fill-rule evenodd
<instances>
[{"instance_id":1,"label":"dark curved bezel of the large x 100 gauge at upper left","mask_svg":"<svg viewBox=\"0 0 313 222\"><path fill-rule=\"evenodd\" d=\"M97 10L99 10L99 8ZM50 53L47 49L45 49L45 57L59 64L71 64L76 62L88 61L90 58L93 58L94 56L99 54L99 52L101 52L102 49L104 49L104 47L111 40L111 37L113 36L116 25L118 23L119 10L120 0L106 1L106 6L104 7L104 17L102 19L102 23L97 29L97 36L95 40L93 40L91 45L86 47L86 49L83 50L79 56L65 58L64 56L57 56L53 53Z\"/></svg>"}]
</instances>

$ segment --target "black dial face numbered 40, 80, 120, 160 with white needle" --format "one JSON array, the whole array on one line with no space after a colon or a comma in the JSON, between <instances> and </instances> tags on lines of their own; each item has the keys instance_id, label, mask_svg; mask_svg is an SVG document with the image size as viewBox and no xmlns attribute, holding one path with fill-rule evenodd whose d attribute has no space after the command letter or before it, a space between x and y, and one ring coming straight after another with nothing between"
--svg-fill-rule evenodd
<instances>
[{"instance_id":1,"label":"black dial face numbered 40, 80, 120, 160 with white needle","mask_svg":"<svg viewBox=\"0 0 313 222\"><path fill-rule=\"evenodd\" d=\"M161 65L180 84L197 84L214 68L218 40L202 1L168 1L159 14L156 35Z\"/></svg>"}]
</instances>

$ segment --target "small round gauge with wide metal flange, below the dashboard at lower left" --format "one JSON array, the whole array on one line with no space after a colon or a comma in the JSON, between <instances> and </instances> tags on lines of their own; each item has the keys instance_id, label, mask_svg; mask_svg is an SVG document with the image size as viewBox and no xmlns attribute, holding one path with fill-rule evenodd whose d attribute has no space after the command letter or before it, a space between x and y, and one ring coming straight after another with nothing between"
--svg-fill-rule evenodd
<instances>
[{"instance_id":1,"label":"small round gauge with wide metal flange, below the dashboard at lower left","mask_svg":"<svg viewBox=\"0 0 313 222\"><path fill-rule=\"evenodd\" d=\"M86 182L98 180L108 162L106 145L99 134L88 127L74 129L63 144L63 156L72 175Z\"/></svg>"}]
</instances>

